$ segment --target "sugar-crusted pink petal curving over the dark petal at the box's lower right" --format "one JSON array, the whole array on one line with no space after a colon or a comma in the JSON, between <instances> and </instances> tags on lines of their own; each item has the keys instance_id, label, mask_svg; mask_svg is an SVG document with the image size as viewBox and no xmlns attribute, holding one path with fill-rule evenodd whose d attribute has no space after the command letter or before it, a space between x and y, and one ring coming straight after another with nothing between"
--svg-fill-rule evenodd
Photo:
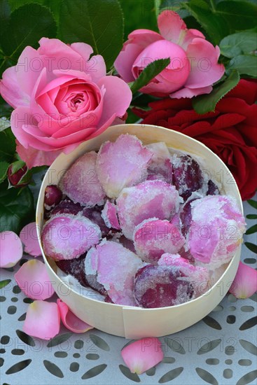
<instances>
[{"instance_id":1,"label":"sugar-crusted pink petal curving over the dark petal at the box's lower right","mask_svg":"<svg viewBox=\"0 0 257 385\"><path fill-rule=\"evenodd\" d=\"M206 267L194 266L179 254L162 254L158 260L160 266L173 266L179 268L186 281L190 281L195 296L204 294L209 288L209 271ZM181 278L183 279L183 278Z\"/></svg>"}]
</instances>

